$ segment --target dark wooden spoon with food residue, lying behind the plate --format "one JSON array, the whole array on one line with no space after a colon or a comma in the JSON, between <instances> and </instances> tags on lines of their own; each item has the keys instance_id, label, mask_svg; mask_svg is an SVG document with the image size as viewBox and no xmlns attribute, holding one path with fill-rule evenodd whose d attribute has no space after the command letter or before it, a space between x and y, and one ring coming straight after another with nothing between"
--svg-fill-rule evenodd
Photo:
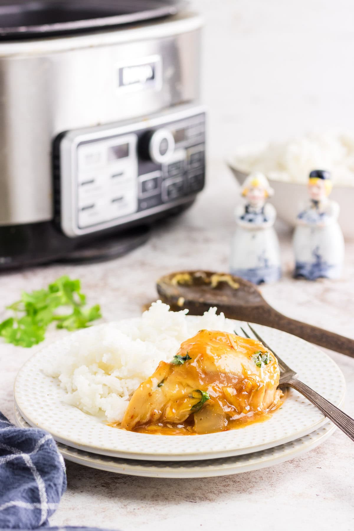
<instances>
[{"instance_id":1,"label":"dark wooden spoon with food residue, lying behind the plate","mask_svg":"<svg viewBox=\"0 0 354 531\"><path fill-rule=\"evenodd\" d=\"M202 315L210 306L217 306L229 319L264 324L354 357L353 339L286 317L264 300L254 284L242 278L211 271L178 271L161 277L157 290L172 310L188 308L190 314Z\"/></svg>"}]
</instances>

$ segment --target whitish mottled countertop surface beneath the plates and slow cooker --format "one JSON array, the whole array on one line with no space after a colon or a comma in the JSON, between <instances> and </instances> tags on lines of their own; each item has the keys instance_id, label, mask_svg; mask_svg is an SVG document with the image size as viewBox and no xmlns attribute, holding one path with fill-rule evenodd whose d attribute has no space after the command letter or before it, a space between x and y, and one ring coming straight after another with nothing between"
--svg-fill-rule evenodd
<instances>
[{"instance_id":1,"label":"whitish mottled countertop surface beneath the plates and slow cooker","mask_svg":"<svg viewBox=\"0 0 354 531\"><path fill-rule=\"evenodd\" d=\"M105 320L138 315L156 299L163 273L184 268L228 270L229 241L237 200L233 177L219 161L209 165L209 184L182 216L162 221L150 241L132 253L91 265L46 265L0 276L1 309L22 289L46 286L64 273L82 280L89 303ZM347 244L338 281L293 280L290 231L277 222L283 278L262 287L267 301L292 318L354 338L354 244ZM3 316L0 314L0 319ZM49 343L66 331L51 329ZM0 404L13 420L12 387L32 349L0 344ZM347 381L346 411L354 416L354 359L329 352ZM353 443L340 431L303 456L263 470L208 479L150 479L100 472L67 463L68 487L51 525L97 526L122 531L252 528L349 530L354 525ZM286 524L289 523L289 525ZM284 525L283 525L284 524Z\"/></svg>"}]
</instances>

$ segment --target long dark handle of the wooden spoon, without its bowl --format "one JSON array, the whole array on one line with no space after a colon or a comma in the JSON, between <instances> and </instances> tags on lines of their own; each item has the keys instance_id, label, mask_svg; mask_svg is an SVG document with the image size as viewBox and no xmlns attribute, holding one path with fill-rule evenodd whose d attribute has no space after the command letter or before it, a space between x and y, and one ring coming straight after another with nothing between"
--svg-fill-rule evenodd
<instances>
[{"instance_id":1,"label":"long dark handle of the wooden spoon, without its bowl","mask_svg":"<svg viewBox=\"0 0 354 531\"><path fill-rule=\"evenodd\" d=\"M269 320L267 319L269 322L262 322L260 324L267 324L267 326L277 328L283 332L289 332L293 336L306 339L306 341L314 343L315 345L320 345L320 347L329 348L330 350L335 350L335 352L346 354L346 356L354 357L353 339L340 336L339 334L329 332L328 330L323 330L322 328L314 327L311 324L290 319L273 309L270 310L267 317L269 317Z\"/></svg>"}]
</instances>

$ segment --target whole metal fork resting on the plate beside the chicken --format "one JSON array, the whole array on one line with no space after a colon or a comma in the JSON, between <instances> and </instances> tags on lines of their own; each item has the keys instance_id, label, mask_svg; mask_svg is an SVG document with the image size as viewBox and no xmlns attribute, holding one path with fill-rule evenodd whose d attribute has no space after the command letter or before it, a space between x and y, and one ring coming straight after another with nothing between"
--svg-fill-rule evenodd
<instances>
[{"instance_id":1,"label":"whole metal fork resting on the plate beside the chicken","mask_svg":"<svg viewBox=\"0 0 354 531\"><path fill-rule=\"evenodd\" d=\"M282 361L278 354L275 354L274 350L266 344L266 342L251 326L251 324L247 324L249 329L251 329L251 331L253 332L253 335L258 340L260 340L265 346L265 348L270 350L278 359L278 365L280 369L279 387L292 387L293 389L299 391L301 395L304 395L304 397L306 397L310 402L312 402L314 406L318 407L318 409L320 409L320 411L326 417L328 417L336 426L338 426L346 435L348 435L348 437L352 441L354 441L354 419L352 419L349 415L346 415L346 413L342 412L341 409L335 407L333 404L331 404L331 402L316 393L316 391L308 387L306 383L303 383L298 380L296 372L290 369L290 367L288 367L288 365ZM248 335L246 330L244 330L244 328L240 328L243 331L244 337L251 337Z\"/></svg>"}]
</instances>

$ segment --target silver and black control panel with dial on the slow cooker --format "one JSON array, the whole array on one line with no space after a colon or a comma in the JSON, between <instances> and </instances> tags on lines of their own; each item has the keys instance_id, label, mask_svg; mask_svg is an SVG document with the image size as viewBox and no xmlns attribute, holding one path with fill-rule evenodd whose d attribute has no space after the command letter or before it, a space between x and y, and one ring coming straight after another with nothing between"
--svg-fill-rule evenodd
<instances>
[{"instance_id":1,"label":"silver and black control panel with dial on the slow cooker","mask_svg":"<svg viewBox=\"0 0 354 531\"><path fill-rule=\"evenodd\" d=\"M56 221L70 237L168 210L204 186L201 107L59 135Z\"/></svg>"}]
</instances>

